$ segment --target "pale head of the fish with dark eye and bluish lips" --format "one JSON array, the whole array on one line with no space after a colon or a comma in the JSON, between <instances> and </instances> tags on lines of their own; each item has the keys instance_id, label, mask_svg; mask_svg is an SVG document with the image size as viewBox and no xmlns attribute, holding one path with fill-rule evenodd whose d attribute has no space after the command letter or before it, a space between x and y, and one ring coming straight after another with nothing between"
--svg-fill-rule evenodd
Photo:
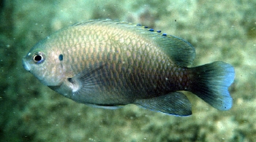
<instances>
[{"instance_id":1,"label":"pale head of the fish with dark eye and bluish lips","mask_svg":"<svg viewBox=\"0 0 256 142\"><path fill-rule=\"evenodd\" d=\"M64 80L60 53L45 40L37 43L23 58L23 67L37 77L42 84L48 87L59 86Z\"/></svg>"}]
</instances>

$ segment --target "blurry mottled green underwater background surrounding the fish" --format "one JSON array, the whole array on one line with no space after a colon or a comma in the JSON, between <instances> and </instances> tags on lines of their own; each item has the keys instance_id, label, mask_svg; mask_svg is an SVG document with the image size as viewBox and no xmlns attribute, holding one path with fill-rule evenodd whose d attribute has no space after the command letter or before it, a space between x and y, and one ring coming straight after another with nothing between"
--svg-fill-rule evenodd
<instances>
[{"instance_id":1,"label":"blurry mottled green underwater background surrounding the fish","mask_svg":"<svg viewBox=\"0 0 256 142\"><path fill-rule=\"evenodd\" d=\"M256 141L256 0L0 0L0 141ZM234 66L233 108L190 92L192 116L97 109L57 94L22 66L40 39L91 19L147 25L190 42L192 66Z\"/></svg>"}]
</instances>

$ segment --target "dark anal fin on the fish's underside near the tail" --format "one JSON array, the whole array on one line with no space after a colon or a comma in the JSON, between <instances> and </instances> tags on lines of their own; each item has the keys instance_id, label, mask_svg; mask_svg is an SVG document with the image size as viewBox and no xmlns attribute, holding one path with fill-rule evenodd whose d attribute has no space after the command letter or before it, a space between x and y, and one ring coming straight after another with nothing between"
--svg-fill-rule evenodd
<instances>
[{"instance_id":1,"label":"dark anal fin on the fish's underside near the tail","mask_svg":"<svg viewBox=\"0 0 256 142\"><path fill-rule=\"evenodd\" d=\"M136 100L135 104L145 109L165 114L188 116L192 114L189 99L182 92L170 92L157 98Z\"/></svg>"}]
</instances>

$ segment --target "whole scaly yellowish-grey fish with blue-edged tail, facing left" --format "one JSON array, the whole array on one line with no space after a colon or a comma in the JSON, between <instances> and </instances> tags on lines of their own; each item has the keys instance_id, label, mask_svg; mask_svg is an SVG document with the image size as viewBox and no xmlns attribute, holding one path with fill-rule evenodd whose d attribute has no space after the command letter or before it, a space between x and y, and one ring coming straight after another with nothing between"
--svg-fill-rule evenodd
<instances>
[{"instance_id":1,"label":"whole scaly yellowish-grey fish with blue-edged tail, facing left","mask_svg":"<svg viewBox=\"0 0 256 142\"><path fill-rule=\"evenodd\" d=\"M189 116L192 92L225 111L233 99L233 66L215 61L191 66L192 44L140 24L89 20L39 41L23 67L51 90L89 106L118 109L135 104L151 111Z\"/></svg>"}]
</instances>

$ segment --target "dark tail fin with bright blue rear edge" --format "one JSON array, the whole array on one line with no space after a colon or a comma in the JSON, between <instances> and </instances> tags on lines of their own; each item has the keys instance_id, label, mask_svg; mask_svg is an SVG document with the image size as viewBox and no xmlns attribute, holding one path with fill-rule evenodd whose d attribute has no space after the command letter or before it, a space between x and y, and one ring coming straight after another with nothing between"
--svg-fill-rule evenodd
<instances>
[{"instance_id":1,"label":"dark tail fin with bright blue rear edge","mask_svg":"<svg viewBox=\"0 0 256 142\"><path fill-rule=\"evenodd\" d=\"M191 92L216 109L230 109L233 101L227 88L234 81L233 66L218 61L192 69L195 76Z\"/></svg>"}]
</instances>

